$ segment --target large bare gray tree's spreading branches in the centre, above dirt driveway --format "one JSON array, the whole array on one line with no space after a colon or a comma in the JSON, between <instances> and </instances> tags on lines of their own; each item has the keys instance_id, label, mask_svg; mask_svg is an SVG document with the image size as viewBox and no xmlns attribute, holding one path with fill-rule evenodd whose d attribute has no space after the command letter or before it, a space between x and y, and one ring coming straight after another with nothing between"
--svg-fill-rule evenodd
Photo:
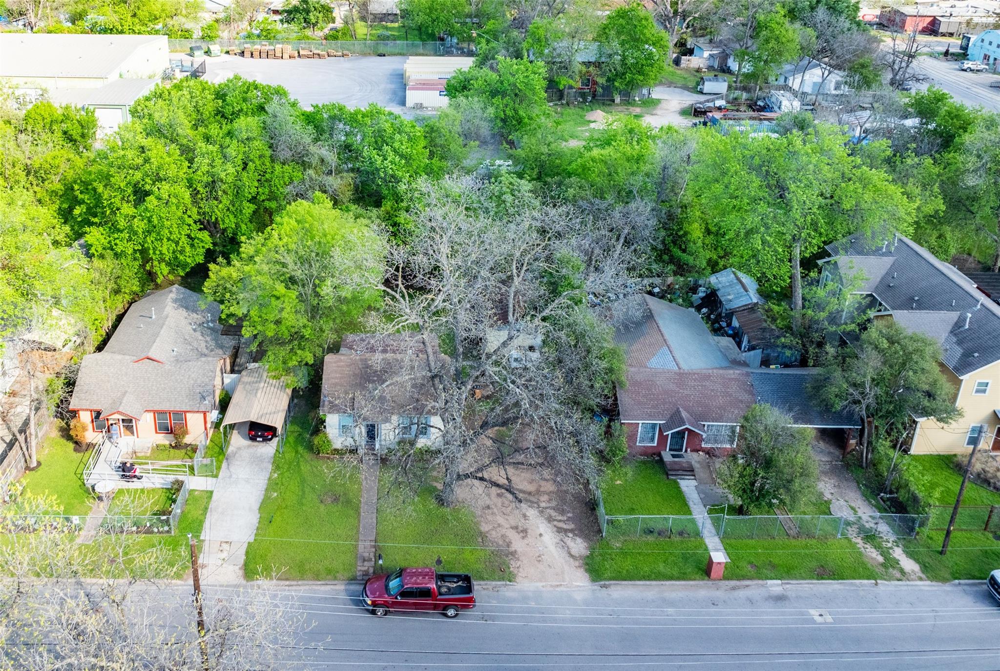
<instances>
[{"instance_id":1,"label":"large bare gray tree's spreading branches in the centre, above dirt driveway","mask_svg":"<svg viewBox=\"0 0 1000 671\"><path fill-rule=\"evenodd\" d=\"M440 426L436 449L404 442L393 456L405 462L419 451L440 469L445 505L464 480L516 497L513 464L592 474L601 440L593 408L611 393L593 350L614 347L586 297L626 290L651 240L648 206L570 206L505 177L424 182L418 199L417 232L389 253L379 326L419 346L408 346L413 354L394 363L381 390L417 390L404 392L422 399L412 414Z\"/></svg>"}]
</instances>

